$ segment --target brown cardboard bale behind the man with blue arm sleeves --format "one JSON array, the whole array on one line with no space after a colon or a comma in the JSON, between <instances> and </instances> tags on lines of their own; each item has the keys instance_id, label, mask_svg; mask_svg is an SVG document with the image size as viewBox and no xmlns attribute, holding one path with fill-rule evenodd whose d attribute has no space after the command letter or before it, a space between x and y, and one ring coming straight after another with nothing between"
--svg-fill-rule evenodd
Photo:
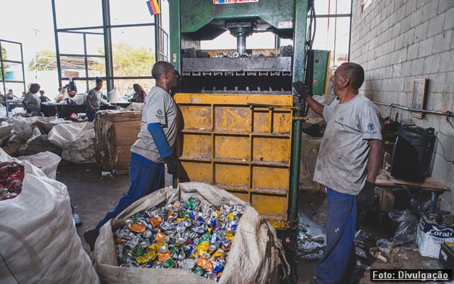
<instances>
[{"instance_id":1,"label":"brown cardboard bale behind the man with blue arm sleeves","mask_svg":"<svg viewBox=\"0 0 454 284\"><path fill-rule=\"evenodd\" d=\"M118 175L127 174L141 120L140 111L99 111L95 121L96 165Z\"/></svg>"}]
</instances>

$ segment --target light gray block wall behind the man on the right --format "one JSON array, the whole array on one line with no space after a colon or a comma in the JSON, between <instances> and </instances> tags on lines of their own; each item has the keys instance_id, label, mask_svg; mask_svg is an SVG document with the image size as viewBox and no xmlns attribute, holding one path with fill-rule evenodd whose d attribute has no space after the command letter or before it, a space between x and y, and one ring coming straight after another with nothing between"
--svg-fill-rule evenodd
<instances>
[{"instance_id":1,"label":"light gray block wall behind the man on the right","mask_svg":"<svg viewBox=\"0 0 454 284\"><path fill-rule=\"evenodd\" d=\"M372 0L364 11L353 0L350 61L365 69L361 92L376 102L411 107L413 80L426 78L426 109L454 111L454 1L453 0ZM382 116L387 107L379 106ZM437 144L432 176L453 192L441 197L442 209L454 212L454 129L445 116L426 114L416 119L409 111L399 120L436 129ZM454 119L451 119L454 124Z\"/></svg>"}]
</instances>

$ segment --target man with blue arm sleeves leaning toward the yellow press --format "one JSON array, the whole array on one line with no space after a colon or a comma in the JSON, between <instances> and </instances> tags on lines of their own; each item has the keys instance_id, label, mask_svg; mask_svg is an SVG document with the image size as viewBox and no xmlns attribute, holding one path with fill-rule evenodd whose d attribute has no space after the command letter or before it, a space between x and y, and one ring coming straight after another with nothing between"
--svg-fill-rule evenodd
<instances>
[{"instance_id":1,"label":"man with blue arm sleeves leaning toward the yellow press","mask_svg":"<svg viewBox=\"0 0 454 284\"><path fill-rule=\"evenodd\" d=\"M175 67L165 61L156 62L151 74L156 85L145 99L138 139L131 147L131 184L128 193L121 197L96 229L84 233L84 239L92 251L101 226L136 200L165 186L164 163L167 164L167 173L177 173L177 158L172 151L177 136L177 106L170 96L170 89L177 86L179 75Z\"/></svg>"}]
</instances>

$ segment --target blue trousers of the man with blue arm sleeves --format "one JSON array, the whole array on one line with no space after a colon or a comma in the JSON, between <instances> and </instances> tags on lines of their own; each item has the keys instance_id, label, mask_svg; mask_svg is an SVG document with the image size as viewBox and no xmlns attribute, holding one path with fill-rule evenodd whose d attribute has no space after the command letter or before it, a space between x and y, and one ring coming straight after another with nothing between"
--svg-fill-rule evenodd
<instances>
[{"instance_id":1,"label":"blue trousers of the man with blue arm sleeves","mask_svg":"<svg viewBox=\"0 0 454 284\"><path fill-rule=\"evenodd\" d=\"M133 204L136 200L149 195L164 187L164 164L155 163L142 155L131 153L131 164L129 164L129 179L131 184L126 195L123 195L116 204L116 207L106 214L106 217L99 222L96 230L106 224L110 219L117 217L124 209Z\"/></svg>"}]
</instances>

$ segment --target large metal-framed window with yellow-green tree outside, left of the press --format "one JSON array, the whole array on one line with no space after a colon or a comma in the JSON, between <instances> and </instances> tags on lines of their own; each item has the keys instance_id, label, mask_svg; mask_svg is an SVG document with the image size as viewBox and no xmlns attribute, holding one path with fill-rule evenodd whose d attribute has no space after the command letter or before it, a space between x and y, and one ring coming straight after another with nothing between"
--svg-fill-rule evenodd
<instances>
[{"instance_id":1,"label":"large metal-framed window with yellow-green tree outside, left of the press","mask_svg":"<svg viewBox=\"0 0 454 284\"><path fill-rule=\"evenodd\" d=\"M160 5L168 11L167 1ZM116 87L121 95L134 82L153 87L150 70L156 60L168 60L168 33L145 1L80 0L70 6L52 0L52 8L60 86L74 77L78 92L85 92L101 77L104 91Z\"/></svg>"}]
</instances>

